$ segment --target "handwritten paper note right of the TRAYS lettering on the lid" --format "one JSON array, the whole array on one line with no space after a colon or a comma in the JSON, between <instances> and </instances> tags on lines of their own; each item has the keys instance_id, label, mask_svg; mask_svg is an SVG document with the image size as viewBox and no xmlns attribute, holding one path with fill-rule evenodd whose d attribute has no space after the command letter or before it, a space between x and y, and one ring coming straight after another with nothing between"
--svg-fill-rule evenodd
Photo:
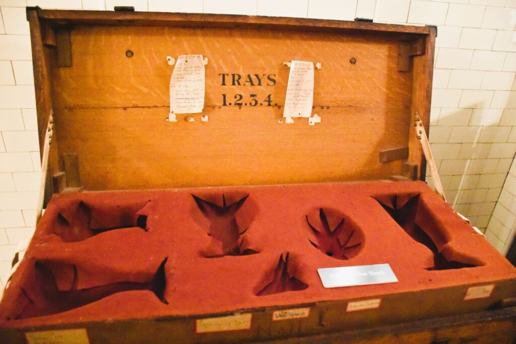
<instances>
[{"instance_id":1,"label":"handwritten paper note right of the TRAYS lettering on the lid","mask_svg":"<svg viewBox=\"0 0 516 344\"><path fill-rule=\"evenodd\" d=\"M314 102L314 63L292 61L283 117L310 117Z\"/></svg>"}]
</instances>

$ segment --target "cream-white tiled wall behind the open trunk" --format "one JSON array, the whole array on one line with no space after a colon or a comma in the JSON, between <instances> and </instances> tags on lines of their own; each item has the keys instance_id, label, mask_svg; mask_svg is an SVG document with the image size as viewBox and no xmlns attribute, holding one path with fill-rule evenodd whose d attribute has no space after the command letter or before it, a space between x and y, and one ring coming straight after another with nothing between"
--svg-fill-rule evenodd
<instances>
[{"instance_id":1,"label":"cream-white tiled wall behind the open trunk","mask_svg":"<svg viewBox=\"0 0 516 344\"><path fill-rule=\"evenodd\" d=\"M15 244L34 232L41 170L27 5L438 25L436 164L451 205L508 249L516 232L516 0L0 0L0 284Z\"/></svg>"}]
</instances>

